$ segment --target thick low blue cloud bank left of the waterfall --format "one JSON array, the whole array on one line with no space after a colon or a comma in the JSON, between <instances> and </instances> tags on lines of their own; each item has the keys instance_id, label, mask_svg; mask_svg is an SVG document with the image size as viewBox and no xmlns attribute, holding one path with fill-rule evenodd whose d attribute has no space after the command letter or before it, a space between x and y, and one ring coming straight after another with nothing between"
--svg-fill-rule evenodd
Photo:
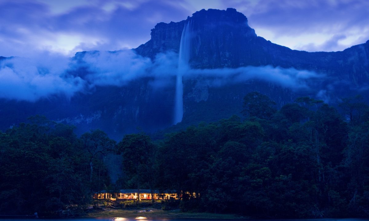
<instances>
[{"instance_id":1,"label":"thick low blue cloud bank left of the waterfall","mask_svg":"<svg viewBox=\"0 0 369 221\"><path fill-rule=\"evenodd\" d=\"M177 73L177 61L174 52L158 54L152 61L133 50L83 52L73 59L55 54L1 59L0 98L70 98L97 86L123 86L144 77L151 78L154 88L166 87Z\"/></svg>"}]
</instances>

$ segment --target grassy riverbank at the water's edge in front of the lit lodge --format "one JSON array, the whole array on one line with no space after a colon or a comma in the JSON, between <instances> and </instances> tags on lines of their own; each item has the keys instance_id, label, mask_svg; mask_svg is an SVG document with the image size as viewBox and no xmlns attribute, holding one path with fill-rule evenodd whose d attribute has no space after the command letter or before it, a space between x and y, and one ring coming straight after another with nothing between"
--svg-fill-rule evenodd
<instances>
[{"instance_id":1,"label":"grassy riverbank at the water's edge in front of the lit lodge","mask_svg":"<svg viewBox=\"0 0 369 221\"><path fill-rule=\"evenodd\" d=\"M152 210L152 211L145 211ZM141 212L140 212L141 211ZM145 211L145 212L142 212ZM127 209L108 209L99 212L90 212L83 216L84 218L107 218L122 217L136 218L142 217L153 219L213 219L213 220L245 220L248 217L242 217L235 214L215 214L215 213L183 213L180 210L159 210L155 208L145 208L144 210L127 210Z\"/></svg>"}]
</instances>

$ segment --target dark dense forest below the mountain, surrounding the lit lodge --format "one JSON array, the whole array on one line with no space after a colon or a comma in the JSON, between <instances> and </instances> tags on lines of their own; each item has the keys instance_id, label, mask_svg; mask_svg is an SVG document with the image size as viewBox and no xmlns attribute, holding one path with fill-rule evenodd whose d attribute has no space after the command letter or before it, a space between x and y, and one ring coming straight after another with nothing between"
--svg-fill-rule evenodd
<instances>
[{"instance_id":1,"label":"dark dense forest below the mountain, surrounding the lit lodge","mask_svg":"<svg viewBox=\"0 0 369 221\"><path fill-rule=\"evenodd\" d=\"M55 213L108 189L183 193L182 211L251 217L368 217L369 108L361 97L336 108L308 97L279 110L244 98L242 116L152 139L119 142L101 130L34 116L0 133L0 214ZM157 136L156 136L157 137ZM107 155L121 157L111 183Z\"/></svg>"}]
</instances>

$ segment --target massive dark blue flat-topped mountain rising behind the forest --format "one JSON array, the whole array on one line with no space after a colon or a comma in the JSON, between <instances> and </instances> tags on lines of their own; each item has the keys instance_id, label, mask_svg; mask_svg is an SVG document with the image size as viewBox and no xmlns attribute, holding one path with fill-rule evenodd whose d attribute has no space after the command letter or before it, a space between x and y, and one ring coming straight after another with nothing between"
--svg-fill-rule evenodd
<instances>
[{"instance_id":1,"label":"massive dark blue flat-topped mountain rising behind the forest","mask_svg":"<svg viewBox=\"0 0 369 221\"><path fill-rule=\"evenodd\" d=\"M186 25L189 74L183 75L184 114L179 126L240 114L242 98L251 91L268 95L278 106L301 96L334 104L343 97L368 94L369 41L340 52L291 50L257 36L245 15L233 8L201 10L180 22L159 23L151 30L151 39L132 50L152 62L160 55L180 55ZM73 60L82 64L86 56L99 53L79 52ZM69 74L86 80L88 71L81 66ZM1 99L0 129L35 114L75 124L79 133L100 128L117 140L126 133L164 129L173 124L176 76L163 79L160 87L155 76L97 85L71 98Z\"/></svg>"}]
</instances>

